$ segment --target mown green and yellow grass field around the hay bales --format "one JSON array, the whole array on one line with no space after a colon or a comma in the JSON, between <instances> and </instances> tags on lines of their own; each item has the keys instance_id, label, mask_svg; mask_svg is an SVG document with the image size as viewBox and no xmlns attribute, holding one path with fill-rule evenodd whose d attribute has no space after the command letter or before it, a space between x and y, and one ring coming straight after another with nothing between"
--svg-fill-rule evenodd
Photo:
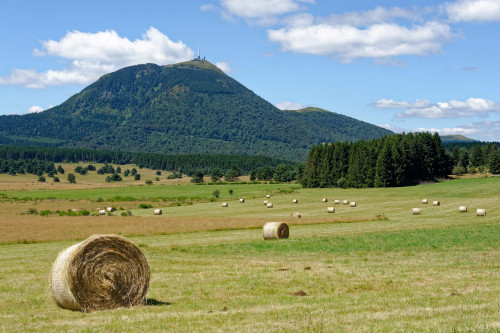
<instances>
[{"instance_id":1,"label":"mown green and yellow grass field around the hay bales","mask_svg":"<svg viewBox=\"0 0 500 334\"><path fill-rule=\"evenodd\" d=\"M210 202L215 189L220 198ZM500 178L389 189L181 184L58 191L0 184L2 332L500 331ZM263 205L266 194L272 209ZM111 201L116 196L122 200ZM133 215L21 214L105 205ZM469 212L459 213L460 205ZM413 207L422 214L412 215ZM153 216L154 208L163 215ZM289 218L291 212L303 218ZM290 238L262 240L266 221L289 223ZM52 301L57 254L92 233L122 234L139 245L152 272L148 305L86 314Z\"/></svg>"}]
</instances>

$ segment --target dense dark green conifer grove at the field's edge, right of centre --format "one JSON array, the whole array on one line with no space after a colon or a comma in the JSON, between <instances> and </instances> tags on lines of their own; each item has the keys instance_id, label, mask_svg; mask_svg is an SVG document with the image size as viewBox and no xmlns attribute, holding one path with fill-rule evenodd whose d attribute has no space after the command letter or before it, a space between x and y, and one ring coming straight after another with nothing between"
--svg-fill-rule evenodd
<instances>
[{"instance_id":1,"label":"dense dark green conifer grove at the field's edge, right of centre","mask_svg":"<svg viewBox=\"0 0 500 334\"><path fill-rule=\"evenodd\" d=\"M314 146L300 180L304 187L399 187L447 177L452 159L437 133L396 134Z\"/></svg>"}]
</instances>

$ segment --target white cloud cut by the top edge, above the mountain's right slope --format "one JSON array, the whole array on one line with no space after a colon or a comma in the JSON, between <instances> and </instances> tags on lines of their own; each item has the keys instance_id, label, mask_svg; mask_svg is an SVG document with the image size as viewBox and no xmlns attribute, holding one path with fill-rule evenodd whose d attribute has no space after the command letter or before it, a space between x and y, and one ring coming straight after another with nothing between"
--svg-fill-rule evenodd
<instances>
[{"instance_id":1,"label":"white cloud cut by the top edge, above the mountain's right slope","mask_svg":"<svg viewBox=\"0 0 500 334\"><path fill-rule=\"evenodd\" d=\"M223 14L238 16L248 23L270 25L277 22L277 17L303 9L302 3L314 3L315 0L221 0Z\"/></svg>"}]
</instances>

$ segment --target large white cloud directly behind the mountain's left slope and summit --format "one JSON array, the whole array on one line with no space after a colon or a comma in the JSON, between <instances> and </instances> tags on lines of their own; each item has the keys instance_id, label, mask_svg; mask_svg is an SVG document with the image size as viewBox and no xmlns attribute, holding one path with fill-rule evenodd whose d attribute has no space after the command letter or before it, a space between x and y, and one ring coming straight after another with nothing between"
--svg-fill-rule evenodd
<instances>
[{"instance_id":1,"label":"large white cloud directly behind the mountain's left slope and summit","mask_svg":"<svg viewBox=\"0 0 500 334\"><path fill-rule=\"evenodd\" d=\"M105 73L141 63L172 64L193 58L194 51L182 41L173 42L154 27L142 39L130 41L115 31L97 33L67 32L59 41L42 42L38 57L54 56L71 61L68 68L38 72L33 69L14 69L0 84L44 88L70 84L88 84Z\"/></svg>"}]
</instances>

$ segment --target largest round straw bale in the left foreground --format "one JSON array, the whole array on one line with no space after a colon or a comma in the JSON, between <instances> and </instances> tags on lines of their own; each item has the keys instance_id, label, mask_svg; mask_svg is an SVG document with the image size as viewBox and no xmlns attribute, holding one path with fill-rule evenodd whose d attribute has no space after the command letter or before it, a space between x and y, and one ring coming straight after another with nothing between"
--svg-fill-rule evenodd
<instances>
[{"instance_id":1,"label":"largest round straw bale in the left foreground","mask_svg":"<svg viewBox=\"0 0 500 334\"><path fill-rule=\"evenodd\" d=\"M93 235L59 253L51 288L66 309L93 312L142 305L150 270L141 250L118 235Z\"/></svg>"}]
</instances>

